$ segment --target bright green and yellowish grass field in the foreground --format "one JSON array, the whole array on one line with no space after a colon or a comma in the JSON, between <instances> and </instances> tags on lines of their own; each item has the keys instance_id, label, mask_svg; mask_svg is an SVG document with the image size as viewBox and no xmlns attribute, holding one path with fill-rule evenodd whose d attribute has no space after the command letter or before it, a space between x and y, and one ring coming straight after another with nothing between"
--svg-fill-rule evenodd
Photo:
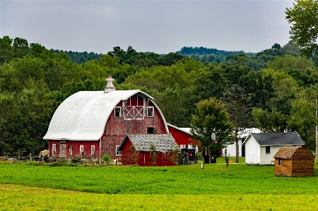
<instances>
[{"instance_id":1,"label":"bright green and yellowish grass field in the foreground","mask_svg":"<svg viewBox=\"0 0 318 211\"><path fill-rule=\"evenodd\" d=\"M221 160L218 160L220 163ZM0 210L318 210L311 177L273 166L46 167L0 164Z\"/></svg>"}]
</instances>

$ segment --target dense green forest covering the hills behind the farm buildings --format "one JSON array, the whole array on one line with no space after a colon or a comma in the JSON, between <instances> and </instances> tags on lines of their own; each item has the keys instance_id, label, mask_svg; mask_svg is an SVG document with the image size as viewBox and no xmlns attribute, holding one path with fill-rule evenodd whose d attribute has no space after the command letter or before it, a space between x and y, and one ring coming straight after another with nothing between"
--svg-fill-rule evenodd
<instances>
[{"instance_id":1,"label":"dense green forest covering the hills behind the farm buildings","mask_svg":"<svg viewBox=\"0 0 318 211\"><path fill-rule=\"evenodd\" d=\"M168 123L189 127L196 104L216 97L235 128L297 131L314 150L317 67L292 42L257 54L204 47L155 54L114 47L107 54L64 52L0 38L0 156L39 152L55 109L75 92L139 89Z\"/></svg>"}]
</instances>

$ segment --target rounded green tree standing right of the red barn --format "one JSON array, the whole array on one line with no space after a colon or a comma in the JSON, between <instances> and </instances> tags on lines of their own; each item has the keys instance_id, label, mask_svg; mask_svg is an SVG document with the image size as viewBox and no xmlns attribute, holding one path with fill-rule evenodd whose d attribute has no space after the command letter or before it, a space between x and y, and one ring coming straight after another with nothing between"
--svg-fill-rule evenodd
<instances>
[{"instance_id":1,"label":"rounded green tree standing right of the red barn","mask_svg":"<svg viewBox=\"0 0 318 211\"><path fill-rule=\"evenodd\" d=\"M225 105L215 97L201 100L196 104L190 126L191 134L199 140L201 147L208 149L209 163L211 163L211 151L220 150L233 142L233 126ZM213 133L216 135L216 140L211 137Z\"/></svg>"}]
</instances>

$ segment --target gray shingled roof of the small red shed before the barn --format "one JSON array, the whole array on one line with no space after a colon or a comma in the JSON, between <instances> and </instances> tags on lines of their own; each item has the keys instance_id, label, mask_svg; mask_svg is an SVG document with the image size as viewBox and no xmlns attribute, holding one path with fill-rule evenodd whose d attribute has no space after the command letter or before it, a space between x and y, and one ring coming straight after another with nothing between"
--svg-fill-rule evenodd
<instances>
[{"instance_id":1,"label":"gray shingled roof of the small red shed before the barn","mask_svg":"<svg viewBox=\"0 0 318 211\"><path fill-rule=\"evenodd\" d=\"M175 138L170 133L167 134L140 134L126 135L119 150L122 150L126 140L130 140L136 150L141 152L149 152L150 143L155 145L158 152L171 152L176 146ZM179 148L179 147L178 147Z\"/></svg>"}]
</instances>

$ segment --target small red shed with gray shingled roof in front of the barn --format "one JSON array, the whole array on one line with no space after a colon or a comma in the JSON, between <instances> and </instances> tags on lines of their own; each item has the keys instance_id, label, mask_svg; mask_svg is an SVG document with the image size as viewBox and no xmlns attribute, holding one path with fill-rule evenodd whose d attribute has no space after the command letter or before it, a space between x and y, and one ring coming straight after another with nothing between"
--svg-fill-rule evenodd
<instances>
[{"instance_id":1,"label":"small red shed with gray shingled roof in front of the barn","mask_svg":"<svg viewBox=\"0 0 318 211\"><path fill-rule=\"evenodd\" d=\"M122 145L119 147L119 150L122 150L122 164L129 165L137 163L139 166L151 166L149 150L151 143L155 145L155 148L158 151L158 159L155 166L175 165L170 161L170 152L177 147L177 143L171 134L126 135ZM134 148L138 153L136 162L132 162L129 158L129 155L131 155L131 145L134 145Z\"/></svg>"}]
</instances>

